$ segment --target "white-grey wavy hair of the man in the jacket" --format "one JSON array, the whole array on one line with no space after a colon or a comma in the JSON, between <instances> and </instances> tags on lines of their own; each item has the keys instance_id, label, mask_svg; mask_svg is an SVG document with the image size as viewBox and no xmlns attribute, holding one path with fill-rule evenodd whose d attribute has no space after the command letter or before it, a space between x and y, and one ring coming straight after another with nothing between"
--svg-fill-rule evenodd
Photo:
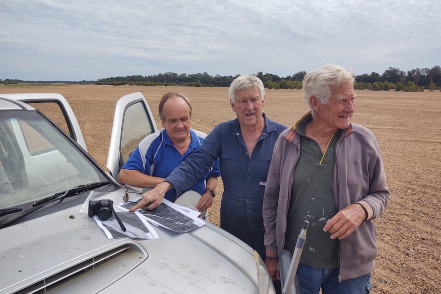
<instances>
[{"instance_id":1,"label":"white-grey wavy hair of the man in the jacket","mask_svg":"<svg viewBox=\"0 0 441 294\"><path fill-rule=\"evenodd\" d=\"M346 82L354 84L354 71L338 65L323 65L307 73L302 82L303 94L313 115L310 97L315 96L321 104L328 104L333 89Z\"/></svg>"}]
</instances>

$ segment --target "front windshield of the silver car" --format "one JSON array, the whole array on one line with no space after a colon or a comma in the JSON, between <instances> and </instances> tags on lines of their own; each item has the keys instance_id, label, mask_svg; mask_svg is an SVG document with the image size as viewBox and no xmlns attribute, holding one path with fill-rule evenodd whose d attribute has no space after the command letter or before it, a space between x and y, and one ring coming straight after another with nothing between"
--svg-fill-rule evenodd
<instances>
[{"instance_id":1,"label":"front windshield of the silver car","mask_svg":"<svg viewBox=\"0 0 441 294\"><path fill-rule=\"evenodd\" d=\"M39 112L0 111L0 209L107 180L86 153Z\"/></svg>"}]
</instances>

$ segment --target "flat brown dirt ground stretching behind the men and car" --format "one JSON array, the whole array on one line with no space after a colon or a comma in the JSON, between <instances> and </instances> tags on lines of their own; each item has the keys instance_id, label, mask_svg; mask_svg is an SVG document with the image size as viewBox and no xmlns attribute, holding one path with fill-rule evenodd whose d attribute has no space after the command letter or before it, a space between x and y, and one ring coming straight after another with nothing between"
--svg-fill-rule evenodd
<instances>
[{"instance_id":1,"label":"flat brown dirt ground stretching behind the men and car","mask_svg":"<svg viewBox=\"0 0 441 294\"><path fill-rule=\"evenodd\" d=\"M0 93L60 93L72 105L89 153L104 168L116 101L142 92L157 123L166 92L184 93L193 105L192 128L209 133L235 118L228 88L179 86L52 85L0 86ZM441 93L357 91L352 121L368 127L383 155L391 198L374 220L379 255L372 273L373 293L441 293ZM301 90L266 89L264 112L292 126L306 111ZM107 170L107 169L106 169ZM219 224L223 186L209 210Z\"/></svg>"}]
</instances>

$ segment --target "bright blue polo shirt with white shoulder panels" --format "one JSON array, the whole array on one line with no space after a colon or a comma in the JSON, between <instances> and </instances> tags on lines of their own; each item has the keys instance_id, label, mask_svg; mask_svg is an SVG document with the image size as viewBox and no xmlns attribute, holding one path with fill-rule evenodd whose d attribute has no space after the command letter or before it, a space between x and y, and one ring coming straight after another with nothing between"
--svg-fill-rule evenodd
<instances>
[{"instance_id":1,"label":"bright blue polo shirt with white shoulder panels","mask_svg":"<svg viewBox=\"0 0 441 294\"><path fill-rule=\"evenodd\" d=\"M165 129L149 134L139 143L122 168L166 178L188 155L199 149L204 138L207 137L204 132L193 129L190 129L190 135L190 146L185 154L181 155L178 149L173 146ZM179 195L188 190L194 190L201 195L204 194L205 180L212 176L220 176L218 160L215 160L210 167L204 168L204 171L198 177L199 179L189 188L180 191ZM177 198L176 190L169 190L165 194L165 198L174 202Z\"/></svg>"}]
</instances>

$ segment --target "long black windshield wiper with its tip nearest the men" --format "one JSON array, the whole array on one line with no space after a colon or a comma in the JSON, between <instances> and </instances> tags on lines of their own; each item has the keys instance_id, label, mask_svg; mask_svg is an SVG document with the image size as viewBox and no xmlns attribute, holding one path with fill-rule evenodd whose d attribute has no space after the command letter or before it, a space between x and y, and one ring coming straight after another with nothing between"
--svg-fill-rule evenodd
<instances>
[{"instance_id":1,"label":"long black windshield wiper with its tip nearest the men","mask_svg":"<svg viewBox=\"0 0 441 294\"><path fill-rule=\"evenodd\" d=\"M84 193L86 191L90 191L105 185L109 185L112 184L111 181L106 181L106 182L95 182L95 183L91 183L91 184L87 184L87 185L80 185L77 187L74 187L72 189L69 190L65 190L65 191L61 191L59 193L55 193L53 196L50 197L46 197L43 198L41 200L35 201L32 205L31 209L28 209L26 211L24 211L19 217L16 217L14 219L11 219L10 221L6 222L6 223L2 223L0 224L0 229L7 227L8 225L11 225L12 223L14 223L15 221L24 218L25 216L35 212L36 210L42 208L43 206L54 202L56 200L59 200L58 203L61 203L61 201L63 201L65 198L68 197L73 197L76 196L78 194ZM21 210L21 209L20 209ZM12 213L12 212L11 212Z\"/></svg>"}]
</instances>

